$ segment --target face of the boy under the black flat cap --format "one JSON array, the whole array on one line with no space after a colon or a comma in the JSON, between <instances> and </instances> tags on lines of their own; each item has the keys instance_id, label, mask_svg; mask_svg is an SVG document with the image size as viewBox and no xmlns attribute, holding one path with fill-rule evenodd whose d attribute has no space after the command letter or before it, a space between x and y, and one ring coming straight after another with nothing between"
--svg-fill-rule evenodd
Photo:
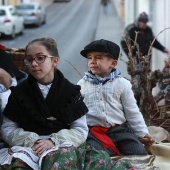
<instances>
[{"instance_id":1,"label":"face of the boy under the black flat cap","mask_svg":"<svg viewBox=\"0 0 170 170\"><path fill-rule=\"evenodd\" d=\"M107 76L117 65L117 60L108 57L106 53L90 52L87 55L88 67L98 77Z\"/></svg>"}]
</instances>

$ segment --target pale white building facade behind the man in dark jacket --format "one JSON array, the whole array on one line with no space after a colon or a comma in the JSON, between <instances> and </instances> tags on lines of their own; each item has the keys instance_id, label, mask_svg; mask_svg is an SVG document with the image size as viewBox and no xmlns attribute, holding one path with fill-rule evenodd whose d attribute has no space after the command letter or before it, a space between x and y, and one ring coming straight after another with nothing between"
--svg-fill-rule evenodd
<instances>
[{"instance_id":1,"label":"pale white building facade behind the man in dark jacket","mask_svg":"<svg viewBox=\"0 0 170 170\"><path fill-rule=\"evenodd\" d=\"M120 19L124 22L124 27L133 23L139 13L145 11L149 15L150 21L148 24L154 35L170 50L169 0L113 0L113 2ZM160 33L161 31L163 32ZM152 70L162 69L167 55L154 48L152 52Z\"/></svg>"}]
</instances>

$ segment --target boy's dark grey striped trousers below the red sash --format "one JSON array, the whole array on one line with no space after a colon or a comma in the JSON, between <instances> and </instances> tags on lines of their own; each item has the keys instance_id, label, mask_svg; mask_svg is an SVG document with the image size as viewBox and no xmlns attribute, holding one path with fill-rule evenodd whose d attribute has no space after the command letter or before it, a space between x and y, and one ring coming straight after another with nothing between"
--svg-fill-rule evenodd
<instances>
[{"instance_id":1,"label":"boy's dark grey striped trousers below the red sash","mask_svg":"<svg viewBox=\"0 0 170 170\"><path fill-rule=\"evenodd\" d=\"M128 123L109 128L106 135L114 142L121 155L147 155L144 145L139 141ZM102 143L90 132L86 142L98 150L108 152L110 156L115 156L113 152L104 148Z\"/></svg>"}]
</instances>

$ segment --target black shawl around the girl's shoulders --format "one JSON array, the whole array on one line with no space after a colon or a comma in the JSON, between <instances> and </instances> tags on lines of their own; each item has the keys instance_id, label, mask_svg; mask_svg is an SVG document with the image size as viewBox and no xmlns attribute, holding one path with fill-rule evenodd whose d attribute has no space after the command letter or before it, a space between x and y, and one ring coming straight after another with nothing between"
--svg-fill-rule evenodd
<instances>
[{"instance_id":1,"label":"black shawl around the girl's shoulders","mask_svg":"<svg viewBox=\"0 0 170 170\"><path fill-rule=\"evenodd\" d=\"M50 135L61 129L69 129L70 124L87 111L80 86L73 85L56 70L46 99L34 77L29 75L27 80L12 90L3 113L25 131ZM56 120L47 119L51 116Z\"/></svg>"}]
</instances>

